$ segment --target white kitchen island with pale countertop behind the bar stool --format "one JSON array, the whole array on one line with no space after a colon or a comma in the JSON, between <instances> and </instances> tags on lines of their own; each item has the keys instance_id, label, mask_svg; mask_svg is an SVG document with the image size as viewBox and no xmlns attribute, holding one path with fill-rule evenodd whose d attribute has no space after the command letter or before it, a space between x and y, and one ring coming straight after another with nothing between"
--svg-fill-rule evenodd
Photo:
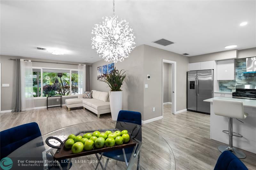
<instances>
[{"instance_id":1,"label":"white kitchen island with pale countertop behind the bar stool","mask_svg":"<svg viewBox=\"0 0 256 170\"><path fill-rule=\"evenodd\" d=\"M228 130L228 118L215 115L213 112L213 99L242 101L244 112L248 113L246 119L242 122L233 119L233 132L240 133L244 137L233 137L233 146L246 151L256 153L256 100L236 99L227 97L214 97L204 100L211 103L210 115L210 138L228 145L228 135L222 130Z\"/></svg>"}]
</instances>

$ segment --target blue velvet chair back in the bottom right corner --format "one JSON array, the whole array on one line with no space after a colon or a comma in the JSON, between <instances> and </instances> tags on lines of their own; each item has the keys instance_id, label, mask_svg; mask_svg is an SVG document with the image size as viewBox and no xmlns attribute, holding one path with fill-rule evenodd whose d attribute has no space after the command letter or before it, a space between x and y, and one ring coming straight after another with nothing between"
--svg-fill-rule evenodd
<instances>
[{"instance_id":1,"label":"blue velvet chair back in the bottom right corner","mask_svg":"<svg viewBox=\"0 0 256 170\"><path fill-rule=\"evenodd\" d=\"M248 170L243 162L232 152L224 151L220 154L214 170Z\"/></svg>"}]
</instances>

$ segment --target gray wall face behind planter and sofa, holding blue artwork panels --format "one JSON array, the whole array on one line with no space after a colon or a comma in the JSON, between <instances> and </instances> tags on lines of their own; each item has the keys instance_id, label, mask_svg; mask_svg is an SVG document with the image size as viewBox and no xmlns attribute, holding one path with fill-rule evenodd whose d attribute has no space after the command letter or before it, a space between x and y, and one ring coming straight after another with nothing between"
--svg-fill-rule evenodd
<instances>
[{"instance_id":1,"label":"gray wall face behind planter and sofa, holding blue artwork panels","mask_svg":"<svg viewBox=\"0 0 256 170\"><path fill-rule=\"evenodd\" d=\"M143 53L144 45L134 48L130 57L124 62L115 63L118 70L126 70L126 78L122 85L123 109L138 111L143 120ZM106 83L97 80L97 67L108 64L100 60L92 64L92 89L102 92L109 92Z\"/></svg>"}]
</instances>

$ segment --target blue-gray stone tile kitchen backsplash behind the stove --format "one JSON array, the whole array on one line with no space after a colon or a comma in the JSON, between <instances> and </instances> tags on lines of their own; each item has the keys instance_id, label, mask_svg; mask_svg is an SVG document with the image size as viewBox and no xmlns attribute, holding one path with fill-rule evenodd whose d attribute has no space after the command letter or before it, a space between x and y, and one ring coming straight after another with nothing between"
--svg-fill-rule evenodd
<instances>
[{"instance_id":1,"label":"blue-gray stone tile kitchen backsplash behind the stove","mask_svg":"<svg viewBox=\"0 0 256 170\"><path fill-rule=\"evenodd\" d=\"M246 72L246 58L236 59L236 80L220 80L220 91L235 92L236 85L252 84L256 85L256 73Z\"/></svg>"}]
</instances>

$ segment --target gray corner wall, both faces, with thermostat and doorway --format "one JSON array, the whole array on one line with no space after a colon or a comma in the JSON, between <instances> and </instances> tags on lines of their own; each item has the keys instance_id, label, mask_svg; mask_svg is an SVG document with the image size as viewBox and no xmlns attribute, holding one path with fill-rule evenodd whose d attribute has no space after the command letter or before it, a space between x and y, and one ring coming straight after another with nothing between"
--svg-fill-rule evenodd
<instances>
[{"instance_id":1,"label":"gray corner wall, both faces, with thermostat and doorway","mask_svg":"<svg viewBox=\"0 0 256 170\"><path fill-rule=\"evenodd\" d=\"M142 120L162 115L162 59L177 62L177 106L176 110L186 109L188 57L170 51L141 45L134 48L129 58L115 64L117 69L127 71L123 85L123 109L139 111ZM101 60L92 64L92 88L108 92L104 82L97 80L97 67L107 64ZM150 80L147 80L150 74ZM148 84L148 88L144 88ZM153 107L156 111L153 112Z\"/></svg>"}]
</instances>

